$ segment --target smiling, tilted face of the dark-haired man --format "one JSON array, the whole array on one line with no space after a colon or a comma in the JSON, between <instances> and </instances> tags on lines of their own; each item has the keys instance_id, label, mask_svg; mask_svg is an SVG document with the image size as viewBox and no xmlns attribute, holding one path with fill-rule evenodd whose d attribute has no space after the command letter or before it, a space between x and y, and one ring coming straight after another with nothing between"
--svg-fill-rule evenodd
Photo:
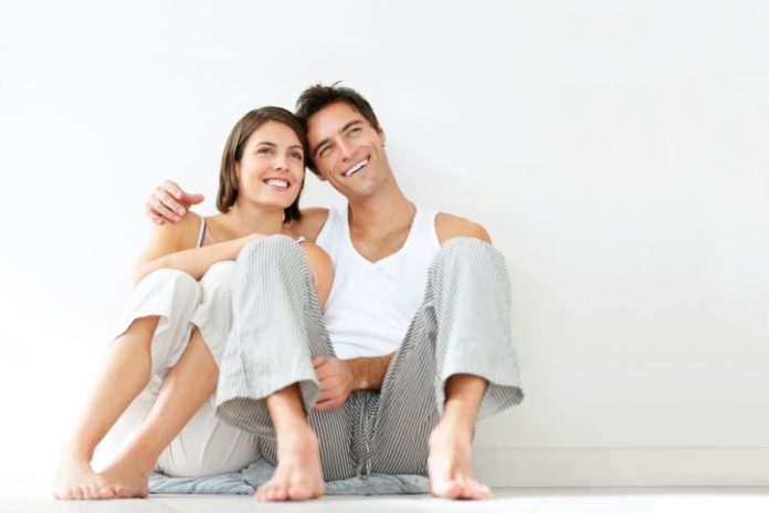
<instances>
[{"instance_id":1,"label":"smiling, tilted face of the dark-haired man","mask_svg":"<svg viewBox=\"0 0 769 513\"><path fill-rule=\"evenodd\" d=\"M346 103L330 104L312 115L307 139L320 179L350 201L371 196L391 174L384 133Z\"/></svg>"}]
</instances>

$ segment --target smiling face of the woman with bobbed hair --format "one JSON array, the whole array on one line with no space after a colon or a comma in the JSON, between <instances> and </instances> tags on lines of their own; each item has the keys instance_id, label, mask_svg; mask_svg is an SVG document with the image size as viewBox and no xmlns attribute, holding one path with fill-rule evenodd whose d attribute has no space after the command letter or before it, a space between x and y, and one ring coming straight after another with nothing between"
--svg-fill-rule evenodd
<instances>
[{"instance_id":1,"label":"smiling face of the woman with bobbed hair","mask_svg":"<svg viewBox=\"0 0 769 513\"><path fill-rule=\"evenodd\" d=\"M267 122L251 134L235 163L239 200L284 209L298 196L304 170L304 148L294 130Z\"/></svg>"}]
</instances>

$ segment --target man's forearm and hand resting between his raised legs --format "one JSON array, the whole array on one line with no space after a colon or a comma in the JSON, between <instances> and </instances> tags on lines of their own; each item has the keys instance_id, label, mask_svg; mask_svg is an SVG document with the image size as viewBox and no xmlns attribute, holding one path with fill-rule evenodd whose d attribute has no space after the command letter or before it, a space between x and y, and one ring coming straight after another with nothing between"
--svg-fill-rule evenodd
<instances>
[{"instance_id":1,"label":"man's forearm and hand resting between his raised legs","mask_svg":"<svg viewBox=\"0 0 769 513\"><path fill-rule=\"evenodd\" d=\"M394 353L370 358L337 359L330 356L313 358L320 392L315 408L328 410L341 406L355 390L379 390Z\"/></svg>"}]
</instances>

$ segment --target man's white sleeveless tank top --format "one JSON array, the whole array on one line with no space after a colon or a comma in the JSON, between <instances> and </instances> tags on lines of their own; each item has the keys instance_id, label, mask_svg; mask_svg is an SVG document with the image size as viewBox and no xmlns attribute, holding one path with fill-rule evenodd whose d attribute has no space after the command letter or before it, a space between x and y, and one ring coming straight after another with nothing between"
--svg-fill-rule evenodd
<instances>
[{"instance_id":1,"label":"man's white sleeveless tank top","mask_svg":"<svg viewBox=\"0 0 769 513\"><path fill-rule=\"evenodd\" d=\"M424 300L428 268L440 249L436 212L417 208L403 247L377 262L350 239L347 203L334 207L316 243L334 262L326 327L337 358L381 356L400 346Z\"/></svg>"}]
</instances>

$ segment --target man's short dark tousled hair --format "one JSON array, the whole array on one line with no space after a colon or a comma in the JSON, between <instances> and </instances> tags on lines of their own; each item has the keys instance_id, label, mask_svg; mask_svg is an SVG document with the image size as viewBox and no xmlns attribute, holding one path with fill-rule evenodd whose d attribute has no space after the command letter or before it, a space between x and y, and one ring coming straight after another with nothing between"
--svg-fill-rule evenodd
<instances>
[{"instance_id":1,"label":"man's short dark tousled hair","mask_svg":"<svg viewBox=\"0 0 769 513\"><path fill-rule=\"evenodd\" d=\"M305 132L307 132L307 121L318 111L334 103L346 103L355 111L359 112L375 130L380 130L379 121L373 113L373 108L371 108L371 104L357 91L343 87L339 85L339 82L335 82L331 85L310 85L299 95L299 98L296 101L296 117L299 119L299 123L302 123L302 127ZM313 156L308 155L308 157L307 167L310 171L317 174L315 163L313 163Z\"/></svg>"}]
</instances>

